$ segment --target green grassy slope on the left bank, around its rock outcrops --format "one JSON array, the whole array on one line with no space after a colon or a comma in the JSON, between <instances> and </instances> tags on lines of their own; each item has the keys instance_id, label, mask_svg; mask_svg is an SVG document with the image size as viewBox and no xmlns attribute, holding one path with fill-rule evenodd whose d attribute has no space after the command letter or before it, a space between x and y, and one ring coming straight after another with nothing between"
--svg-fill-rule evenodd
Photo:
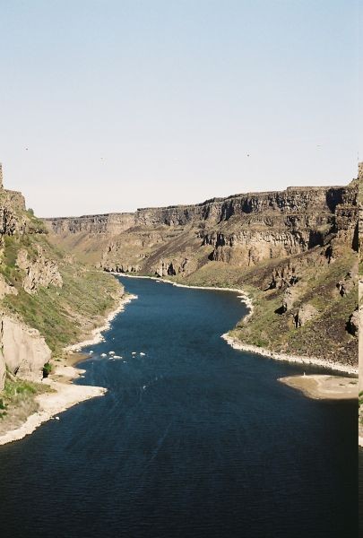
<instances>
[{"instance_id":1,"label":"green grassy slope on the left bank, around its rock outcrops","mask_svg":"<svg viewBox=\"0 0 363 538\"><path fill-rule=\"evenodd\" d=\"M17 256L21 250L26 250L29 259L36 261L39 247L43 256L56 262L63 287L39 287L36 293L30 294L23 289L25 273L17 266ZM38 329L56 354L60 354L65 345L81 341L92 328L100 325L122 293L115 278L75 262L51 246L43 233L5 237L0 273L17 291L17 295L4 297L4 310Z\"/></svg>"}]
</instances>

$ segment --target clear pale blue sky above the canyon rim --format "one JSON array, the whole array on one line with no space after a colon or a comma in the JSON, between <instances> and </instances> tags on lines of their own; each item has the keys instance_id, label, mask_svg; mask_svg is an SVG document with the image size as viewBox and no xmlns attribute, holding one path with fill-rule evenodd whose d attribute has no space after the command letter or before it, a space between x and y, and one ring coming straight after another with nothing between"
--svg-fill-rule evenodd
<instances>
[{"instance_id":1,"label":"clear pale blue sky above the canyon rim","mask_svg":"<svg viewBox=\"0 0 363 538\"><path fill-rule=\"evenodd\" d=\"M359 4L0 0L5 186L56 216L347 183Z\"/></svg>"}]
</instances>

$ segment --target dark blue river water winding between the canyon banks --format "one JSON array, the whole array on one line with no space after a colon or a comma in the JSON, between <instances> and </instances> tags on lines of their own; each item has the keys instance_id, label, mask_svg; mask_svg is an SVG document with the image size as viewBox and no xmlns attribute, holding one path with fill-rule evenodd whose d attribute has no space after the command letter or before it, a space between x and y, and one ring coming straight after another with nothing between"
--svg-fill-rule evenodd
<instances>
[{"instance_id":1,"label":"dark blue river water winding between the canyon banks","mask_svg":"<svg viewBox=\"0 0 363 538\"><path fill-rule=\"evenodd\" d=\"M78 380L108 395L0 447L1 536L356 537L357 406L230 348L236 294L121 280L139 299Z\"/></svg>"}]
</instances>

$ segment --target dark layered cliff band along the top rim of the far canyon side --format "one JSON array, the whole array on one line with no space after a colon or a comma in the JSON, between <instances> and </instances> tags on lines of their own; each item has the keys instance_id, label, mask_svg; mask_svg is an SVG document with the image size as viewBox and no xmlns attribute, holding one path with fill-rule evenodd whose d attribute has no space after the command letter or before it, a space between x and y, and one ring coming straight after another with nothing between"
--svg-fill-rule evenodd
<instances>
[{"instance_id":1,"label":"dark layered cliff band along the top rim of the far canyon side","mask_svg":"<svg viewBox=\"0 0 363 538\"><path fill-rule=\"evenodd\" d=\"M106 213L81 217L44 219L56 234L109 233L117 235L137 226L197 226L200 222L216 225L233 216L268 213L270 216L295 213L334 213L349 197L347 187L288 187L283 192L233 195L213 198L202 204L172 205L138 209L135 213Z\"/></svg>"}]
</instances>

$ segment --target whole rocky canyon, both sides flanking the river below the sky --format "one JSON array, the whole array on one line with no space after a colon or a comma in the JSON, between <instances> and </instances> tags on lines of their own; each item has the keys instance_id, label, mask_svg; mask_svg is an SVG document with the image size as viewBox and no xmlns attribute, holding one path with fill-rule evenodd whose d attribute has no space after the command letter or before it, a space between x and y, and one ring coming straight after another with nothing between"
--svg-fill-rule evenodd
<instances>
[{"instance_id":1,"label":"whole rocky canyon, both sides flanking the river below the sky","mask_svg":"<svg viewBox=\"0 0 363 538\"><path fill-rule=\"evenodd\" d=\"M40 220L0 172L0 390L101 325L123 293L105 273L238 287L254 310L233 338L357 368L359 178Z\"/></svg>"}]
</instances>

